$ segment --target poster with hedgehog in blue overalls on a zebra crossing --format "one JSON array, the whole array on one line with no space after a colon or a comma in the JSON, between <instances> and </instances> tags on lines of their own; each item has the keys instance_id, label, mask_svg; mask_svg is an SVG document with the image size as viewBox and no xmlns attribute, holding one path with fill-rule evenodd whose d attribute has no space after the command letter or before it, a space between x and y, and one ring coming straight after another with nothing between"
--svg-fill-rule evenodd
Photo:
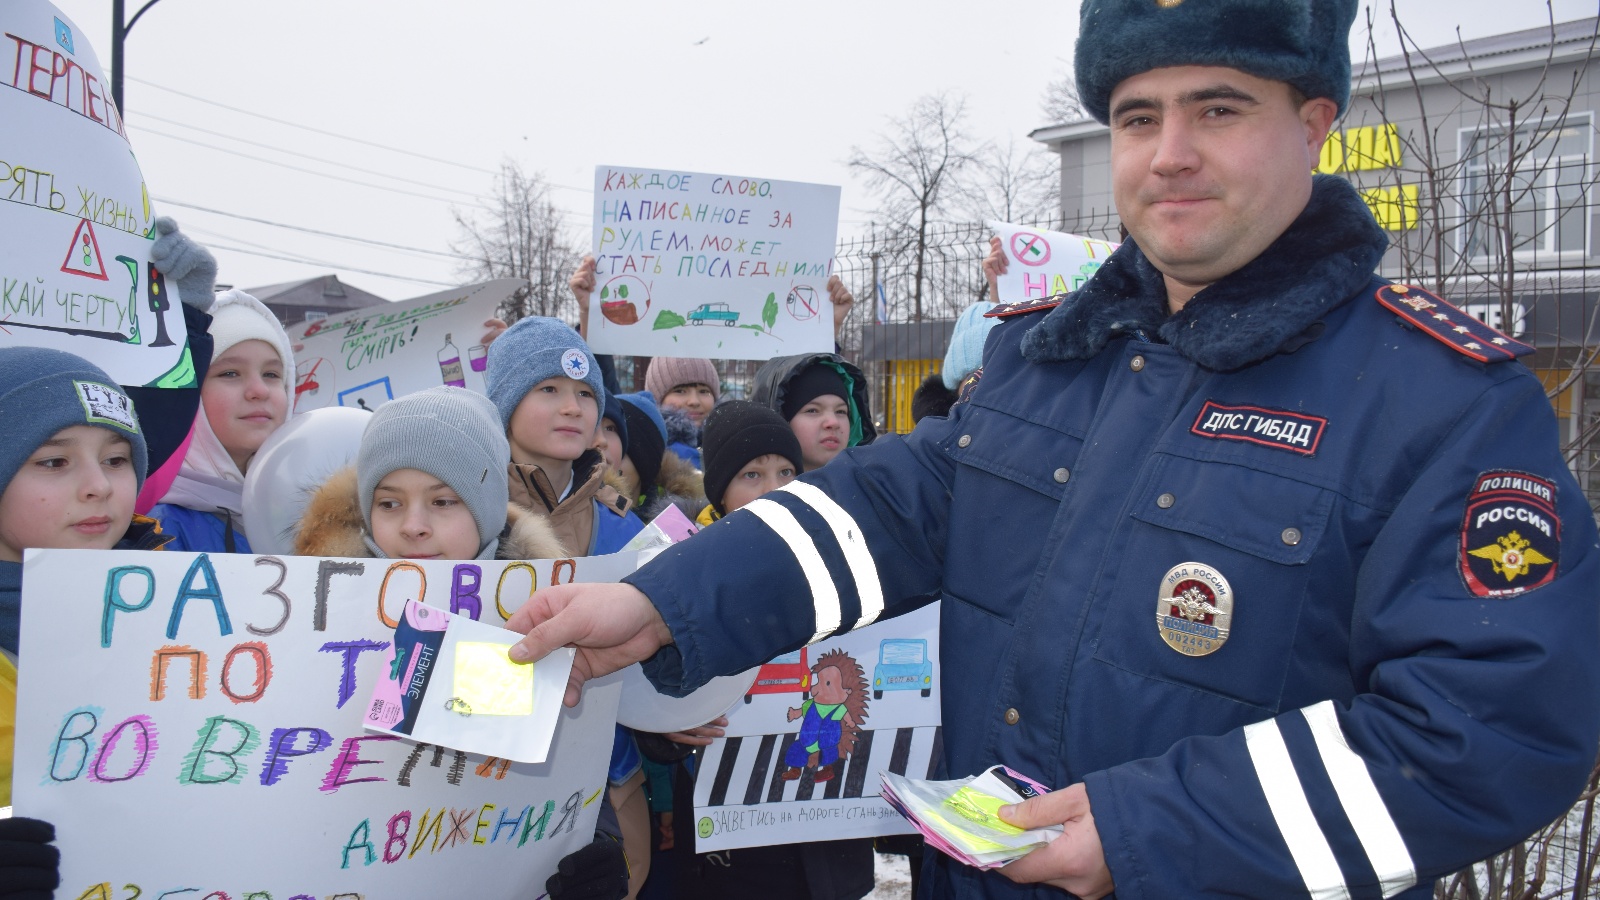
<instances>
[{"instance_id":1,"label":"poster with hedgehog in blue overalls on a zebra crossing","mask_svg":"<svg viewBox=\"0 0 1600 900\"><path fill-rule=\"evenodd\" d=\"M939 769L939 605L763 665L725 730L694 780L698 852L910 834L883 772Z\"/></svg>"}]
</instances>

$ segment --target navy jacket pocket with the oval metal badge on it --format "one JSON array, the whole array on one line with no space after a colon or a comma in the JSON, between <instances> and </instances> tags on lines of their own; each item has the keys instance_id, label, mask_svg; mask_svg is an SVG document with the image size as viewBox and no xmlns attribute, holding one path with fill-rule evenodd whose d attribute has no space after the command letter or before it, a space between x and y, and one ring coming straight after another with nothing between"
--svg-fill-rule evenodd
<instances>
[{"instance_id":1,"label":"navy jacket pocket with the oval metal badge on it","mask_svg":"<svg viewBox=\"0 0 1600 900\"><path fill-rule=\"evenodd\" d=\"M1098 601L1094 658L1275 714L1334 493L1157 456Z\"/></svg>"}]
</instances>

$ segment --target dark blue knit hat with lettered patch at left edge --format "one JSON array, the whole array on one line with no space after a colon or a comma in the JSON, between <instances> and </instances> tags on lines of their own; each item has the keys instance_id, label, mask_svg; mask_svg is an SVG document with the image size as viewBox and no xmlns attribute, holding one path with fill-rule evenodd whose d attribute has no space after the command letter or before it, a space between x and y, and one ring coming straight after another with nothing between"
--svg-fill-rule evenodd
<instances>
[{"instance_id":1,"label":"dark blue knit hat with lettered patch at left edge","mask_svg":"<svg viewBox=\"0 0 1600 900\"><path fill-rule=\"evenodd\" d=\"M58 431L93 424L133 447L133 471L144 485L149 455L133 400L91 362L45 348L0 349L0 493L11 485L22 463Z\"/></svg>"}]
</instances>

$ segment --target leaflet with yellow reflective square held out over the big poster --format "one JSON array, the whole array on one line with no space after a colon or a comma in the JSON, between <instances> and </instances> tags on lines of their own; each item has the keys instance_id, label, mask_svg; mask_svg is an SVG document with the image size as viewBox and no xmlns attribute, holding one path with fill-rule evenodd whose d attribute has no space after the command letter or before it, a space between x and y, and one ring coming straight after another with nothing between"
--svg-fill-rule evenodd
<instances>
[{"instance_id":1,"label":"leaflet with yellow reflective square held out over the big poster","mask_svg":"<svg viewBox=\"0 0 1600 900\"><path fill-rule=\"evenodd\" d=\"M573 649L510 661L515 631L408 601L366 700L368 732L515 762L544 762L562 714Z\"/></svg>"}]
</instances>

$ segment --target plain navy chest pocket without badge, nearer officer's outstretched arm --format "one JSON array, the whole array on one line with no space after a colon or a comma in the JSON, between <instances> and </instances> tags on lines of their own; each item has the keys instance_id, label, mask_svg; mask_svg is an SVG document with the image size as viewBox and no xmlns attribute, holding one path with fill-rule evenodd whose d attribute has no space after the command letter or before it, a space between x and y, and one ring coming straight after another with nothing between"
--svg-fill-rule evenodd
<instances>
[{"instance_id":1,"label":"plain navy chest pocket without badge, nearer officer's outstretched arm","mask_svg":"<svg viewBox=\"0 0 1600 900\"><path fill-rule=\"evenodd\" d=\"M946 447L957 463L946 557L962 560L946 569L946 596L1014 621L1082 445L1070 434L987 407L963 416Z\"/></svg>"}]
</instances>

